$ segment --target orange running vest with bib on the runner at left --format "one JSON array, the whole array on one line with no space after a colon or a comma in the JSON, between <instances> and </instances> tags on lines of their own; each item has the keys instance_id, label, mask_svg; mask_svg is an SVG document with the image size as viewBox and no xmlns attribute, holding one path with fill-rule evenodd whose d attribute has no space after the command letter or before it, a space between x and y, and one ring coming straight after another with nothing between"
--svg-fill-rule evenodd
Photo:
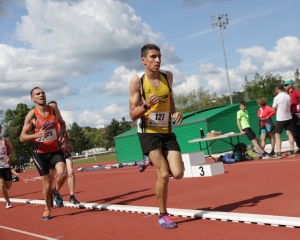
<instances>
[{"instance_id":1,"label":"orange running vest with bib on the runner at left","mask_svg":"<svg viewBox=\"0 0 300 240\"><path fill-rule=\"evenodd\" d=\"M38 133L41 128L47 131L48 135L45 138L36 138L33 140L33 150L37 153L51 153L60 149L59 123L54 115L53 108L48 106L49 115L43 117L40 112L33 108L35 114L34 133Z\"/></svg>"}]
</instances>

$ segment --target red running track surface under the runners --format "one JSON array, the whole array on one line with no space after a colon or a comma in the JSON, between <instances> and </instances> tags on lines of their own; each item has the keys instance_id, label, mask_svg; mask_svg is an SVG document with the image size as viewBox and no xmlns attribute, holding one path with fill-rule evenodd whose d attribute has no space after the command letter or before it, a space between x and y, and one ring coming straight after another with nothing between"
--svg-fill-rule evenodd
<instances>
[{"instance_id":1,"label":"red running track surface under the runners","mask_svg":"<svg viewBox=\"0 0 300 240\"><path fill-rule=\"evenodd\" d=\"M300 156L224 165L225 174L205 178L170 179L168 206L183 209L300 217ZM21 179L37 177L37 171ZM81 202L156 207L153 167L137 166L76 172L76 198ZM42 199L41 181L13 183L12 198ZM68 186L61 193L68 201ZM0 202L0 239L299 239L300 229L173 217L178 228L164 230L156 215L76 208L53 208L42 220L44 206ZM6 230L1 227L9 227ZM14 231L13 231L14 229ZM22 233L15 232L24 231ZM38 234L35 237L28 234Z\"/></svg>"}]
</instances>

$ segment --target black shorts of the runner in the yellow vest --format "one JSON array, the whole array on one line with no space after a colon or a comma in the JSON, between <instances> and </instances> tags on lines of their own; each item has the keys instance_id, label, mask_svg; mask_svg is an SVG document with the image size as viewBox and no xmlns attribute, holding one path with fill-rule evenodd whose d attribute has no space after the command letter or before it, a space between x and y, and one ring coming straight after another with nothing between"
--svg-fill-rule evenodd
<instances>
[{"instance_id":1,"label":"black shorts of the runner in the yellow vest","mask_svg":"<svg viewBox=\"0 0 300 240\"><path fill-rule=\"evenodd\" d=\"M138 133L138 137L144 155L149 155L149 152L158 148L162 151L180 152L174 133Z\"/></svg>"}]
</instances>

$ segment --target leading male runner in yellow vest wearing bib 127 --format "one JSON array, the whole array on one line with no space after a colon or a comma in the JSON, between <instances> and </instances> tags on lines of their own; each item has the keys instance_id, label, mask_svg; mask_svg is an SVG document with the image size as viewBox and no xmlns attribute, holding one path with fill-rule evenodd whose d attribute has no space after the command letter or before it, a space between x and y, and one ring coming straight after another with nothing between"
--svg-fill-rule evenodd
<instances>
[{"instance_id":1,"label":"leading male runner in yellow vest wearing bib 127","mask_svg":"<svg viewBox=\"0 0 300 240\"><path fill-rule=\"evenodd\" d=\"M130 82L129 114L138 120L138 137L144 155L149 156L157 174L155 187L161 227L176 227L167 212L167 193L170 174L174 179L183 177L180 147L172 129L182 122L181 113L175 109L172 96L173 75L160 70L161 53L158 46L147 44L141 49L144 73Z\"/></svg>"}]
</instances>

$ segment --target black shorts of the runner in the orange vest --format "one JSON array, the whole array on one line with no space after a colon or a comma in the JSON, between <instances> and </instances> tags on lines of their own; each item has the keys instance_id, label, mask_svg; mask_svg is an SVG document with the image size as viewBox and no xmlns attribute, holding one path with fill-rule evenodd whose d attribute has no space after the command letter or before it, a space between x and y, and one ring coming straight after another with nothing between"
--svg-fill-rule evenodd
<instances>
[{"instance_id":1,"label":"black shorts of the runner in the orange vest","mask_svg":"<svg viewBox=\"0 0 300 240\"><path fill-rule=\"evenodd\" d=\"M52 153L37 153L33 151L33 161L40 176L45 176L50 172L50 169L55 169L57 163L66 163L64 154L61 150Z\"/></svg>"}]
</instances>

